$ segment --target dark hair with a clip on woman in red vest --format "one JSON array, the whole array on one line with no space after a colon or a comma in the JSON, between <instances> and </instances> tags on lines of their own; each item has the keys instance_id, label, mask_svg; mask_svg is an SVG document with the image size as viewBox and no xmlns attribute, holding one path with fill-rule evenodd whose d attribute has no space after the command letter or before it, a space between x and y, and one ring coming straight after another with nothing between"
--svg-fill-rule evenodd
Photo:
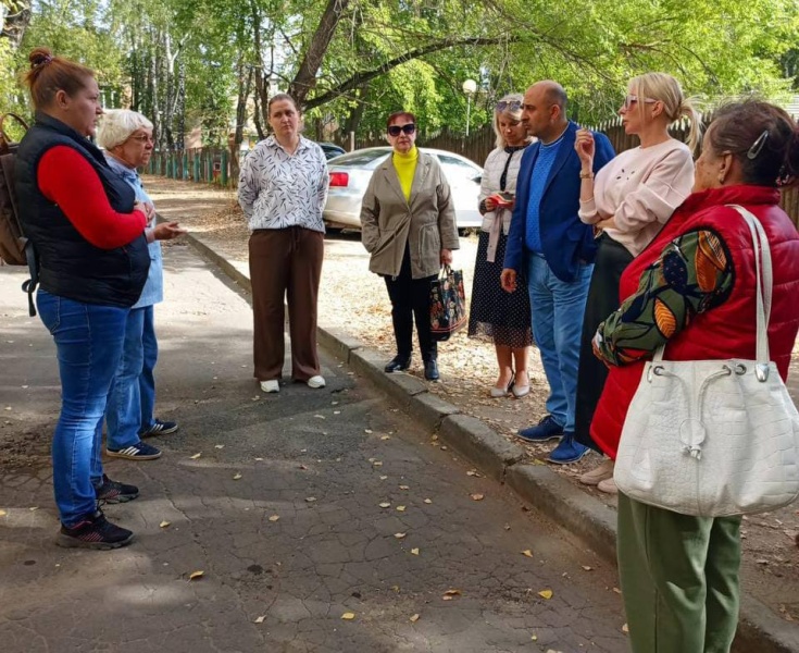
<instances>
[{"instance_id":1,"label":"dark hair with a clip on woman in red vest","mask_svg":"<svg viewBox=\"0 0 799 653\"><path fill-rule=\"evenodd\" d=\"M754 186L791 185L799 176L799 131L790 115L762 100L723 106L708 127L713 153L732 153L744 182Z\"/></svg>"}]
</instances>

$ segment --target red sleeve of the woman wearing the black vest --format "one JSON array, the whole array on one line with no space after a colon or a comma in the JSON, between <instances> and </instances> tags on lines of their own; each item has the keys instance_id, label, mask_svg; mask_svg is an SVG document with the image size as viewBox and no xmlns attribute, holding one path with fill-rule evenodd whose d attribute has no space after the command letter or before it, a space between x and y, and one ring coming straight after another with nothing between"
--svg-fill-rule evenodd
<instances>
[{"instance_id":1,"label":"red sleeve of the woman wearing the black vest","mask_svg":"<svg viewBox=\"0 0 799 653\"><path fill-rule=\"evenodd\" d=\"M59 145L47 150L36 178L45 197L59 205L78 233L95 247L122 247L145 231L145 213L114 211L95 169L71 147Z\"/></svg>"}]
</instances>

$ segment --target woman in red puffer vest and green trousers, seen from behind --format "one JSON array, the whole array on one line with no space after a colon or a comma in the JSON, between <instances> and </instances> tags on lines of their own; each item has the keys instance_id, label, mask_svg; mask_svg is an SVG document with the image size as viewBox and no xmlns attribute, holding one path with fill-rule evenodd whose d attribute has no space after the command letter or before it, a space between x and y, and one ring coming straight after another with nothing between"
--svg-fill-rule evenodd
<instances>
[{"instance_id":1,"label":"woman in red puffer vest and green trousers, seen from behind","mask_svg":"<svg viewBox=\"0 0 799 653\"><path fill-rule=\"evenodd\" d=\"M610 366L591 436L615 458L644 361L752 358L754 254L740 205L763 225L774 291L769 347L783 378L799 330L799 234L777 186L799 174L799 131L760 101L716 114L697 161L692 194L625 270L617 311L600 324L597 355ZM619 495L617 554L633 650L729 651L738 620L740 517L700 518Z\"/></svg>"}]
</instances>

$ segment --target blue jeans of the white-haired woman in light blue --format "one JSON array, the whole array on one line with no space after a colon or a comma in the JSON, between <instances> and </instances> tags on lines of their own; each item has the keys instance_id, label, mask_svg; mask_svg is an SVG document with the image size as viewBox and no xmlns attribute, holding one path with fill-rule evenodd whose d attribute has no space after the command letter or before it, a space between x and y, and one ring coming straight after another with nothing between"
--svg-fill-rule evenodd
<instances>
[{"instance_id":1,"label":"blue jeans of the white-haired woman in light blue","mask_svg":"<svg viewBox=\"0 0 799 653\"><path fill-rule=\"evenodd\" d=\"M125 345L105 408L108 446L121 449L140 440L152 426L158 342L152 306L132 308L125 323Z\"/></svg>"}]
</instances>

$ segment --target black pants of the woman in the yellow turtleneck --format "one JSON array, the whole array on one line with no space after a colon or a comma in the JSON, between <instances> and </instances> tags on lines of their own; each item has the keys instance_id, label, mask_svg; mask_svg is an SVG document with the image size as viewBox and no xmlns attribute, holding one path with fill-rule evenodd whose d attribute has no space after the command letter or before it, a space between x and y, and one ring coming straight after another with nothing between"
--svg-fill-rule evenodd
<instances>
[{"instance_id":1,"label":"black pants of the woman in the yellow turtleneck","mask_svg":"<svg viewBox=\"0 0 799 653\"><path fill-rule=\"evenodd\" d=\"M416 334L422 360L436 360L438 350L430 333L429 295L430 282L436 275L423 279L411 278L411 252L405 247L399 276L384 276L388 297L391 300L391 321L394 337L397 341L397 355L410 358L413 349L413 319L416 319Z\"/></svg>"}]
</instances>

